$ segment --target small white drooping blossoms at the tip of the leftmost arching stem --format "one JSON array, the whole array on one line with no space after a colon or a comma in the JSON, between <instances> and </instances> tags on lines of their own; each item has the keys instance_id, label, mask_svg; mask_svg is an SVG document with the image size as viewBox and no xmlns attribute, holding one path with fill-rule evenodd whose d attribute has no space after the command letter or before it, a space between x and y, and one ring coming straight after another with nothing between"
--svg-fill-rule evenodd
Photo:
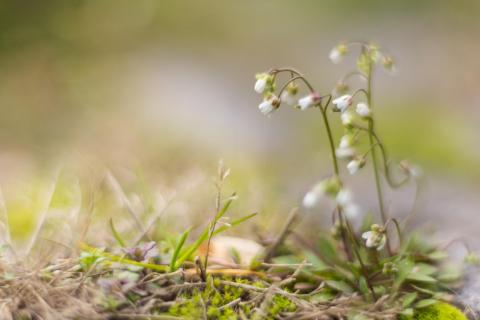
<instances>
[{"instance_id":1,"label":"small white drooping blossoms at the tip of the leftmost arching stem","mask_svg":"<svg viewBox=\"0 0 480 320\"><path fill-rule=\"evenodd\" d=\"M280 97L275 95L275 77L270 73L259 73L255 76L254 89L257 93L263 95L263 101L259 104L258 109L264 115L269 116L272 112L280 107L281 103L295 106L300 110L318 106L322 100L321 96L312 92L302 98L297 99L298 85L292 81L284 89L281 90Z\"/></svg>"}]
</instances>

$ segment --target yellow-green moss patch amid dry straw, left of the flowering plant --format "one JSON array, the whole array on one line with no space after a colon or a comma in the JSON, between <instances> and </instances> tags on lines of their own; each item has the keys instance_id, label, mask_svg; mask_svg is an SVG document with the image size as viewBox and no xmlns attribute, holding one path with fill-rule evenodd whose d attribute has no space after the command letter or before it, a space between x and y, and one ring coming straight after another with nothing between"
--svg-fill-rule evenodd
<instances>
[{"instance_id":1,"label":"yellow-green moss patch amid dry straw, left of the flowering plant","mask_svg":"<svg viewBox=\"0 0 480 320\"><path fill-rule=\"evenodd\" d=\"M213 280L213 281L212 281ZM226 304L240 298L242 302L250 300L250 293L236 286L222 285L219 278L207 281L204 290L195 289L189 293L183 293L178 298L180 301L172 305L169 314L187 319L200 319L207 314L208 319L234 320L238 314L243 313L247 317L252 315L255 306L247 303L237 303L232 307L224 307ZM253 282L245 279L223 280L243 283L258 288L263 288L261 282ZM267 309L265 319L276 319L282 312L295 311L296 305L287 298L275 295Z\"/></svg>"}]
</instances>

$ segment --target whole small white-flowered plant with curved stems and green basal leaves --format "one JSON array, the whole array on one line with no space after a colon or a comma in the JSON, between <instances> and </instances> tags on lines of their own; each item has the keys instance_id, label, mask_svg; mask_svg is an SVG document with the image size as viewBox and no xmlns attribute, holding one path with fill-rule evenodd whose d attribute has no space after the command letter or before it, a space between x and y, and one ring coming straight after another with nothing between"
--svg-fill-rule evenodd
<instances>
[{"instance_id":1,"label":"whole small white-flowered plant with curved stems and green basal leaves","mask_svg":"<svg viewBox=\"0 0 480 320\"><path fill-rule=\"evenodd\" d=\"M357 292L365 302L382 300L397 306L400 313L411 315L416 309L448 298L454 279L446 277L436 259L438 250L416 236L407 237L406 221L391 217L385 206L385 185L395 189L411 181L416 183L421 177L417 166L389 158L377 131L374 74L377 67L394 74L394 60L379 46L367 42L340 43L330 52L330 59L337 64L353 52L358 52L355 68L340 78L332 92L315 89L305 75L293 68L257 74L254 89L263 97L258 108L268 117L282 105L304 112L320 111L333 172L306 193L302 205L304 210L311 210L329 201L335 211L332 235L323 237L317 250L322 267L313 272L326 279L334 291ZM361 85L350 88L352 78L358 78ZM304 90L306 94L300 96ZM334 118L343 127L340 138L332 130ZM358 216L359 207L344 182L343 162L350 175L371 164L378 219L364 229L356 230L351 222Z\"/></svg>"}]
</instances>

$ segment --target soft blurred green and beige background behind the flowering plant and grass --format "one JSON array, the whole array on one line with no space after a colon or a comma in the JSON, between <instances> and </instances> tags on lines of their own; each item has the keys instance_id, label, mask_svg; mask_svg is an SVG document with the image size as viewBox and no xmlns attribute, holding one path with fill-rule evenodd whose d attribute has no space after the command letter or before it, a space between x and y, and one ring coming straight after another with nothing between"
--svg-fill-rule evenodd
<instances>
[{"instance_id":1,"label":"soft blurred green and beige background behind the flowering plant and grass","mask_svg":"<svg viewBox=\"0 0 480 320\"><path fill-rule=\"evenodd\" d=\"M128 221L100 201L112 196L105 170L140 211L168 204L163 226L182 230L211 214L219 159L239 194L232 214L258 211L257 228L275 230L328 174L326 138L314 111L262 116L253 76L294 66L330 92L354 66L331 64L330 48L361 39L397 63L396 76L376 74L375 113L392 156L428 177L416 223L475 243L479 31L475 0L1 1L0 183L12 236L28 242L44 211L78 219L82 186L96 214ZM371 173L350 180L375 212ZM391 211L405 214L413 193L389 192ZM321 214L305 224L323 226Z\"/></svg>"}]
</instances>

